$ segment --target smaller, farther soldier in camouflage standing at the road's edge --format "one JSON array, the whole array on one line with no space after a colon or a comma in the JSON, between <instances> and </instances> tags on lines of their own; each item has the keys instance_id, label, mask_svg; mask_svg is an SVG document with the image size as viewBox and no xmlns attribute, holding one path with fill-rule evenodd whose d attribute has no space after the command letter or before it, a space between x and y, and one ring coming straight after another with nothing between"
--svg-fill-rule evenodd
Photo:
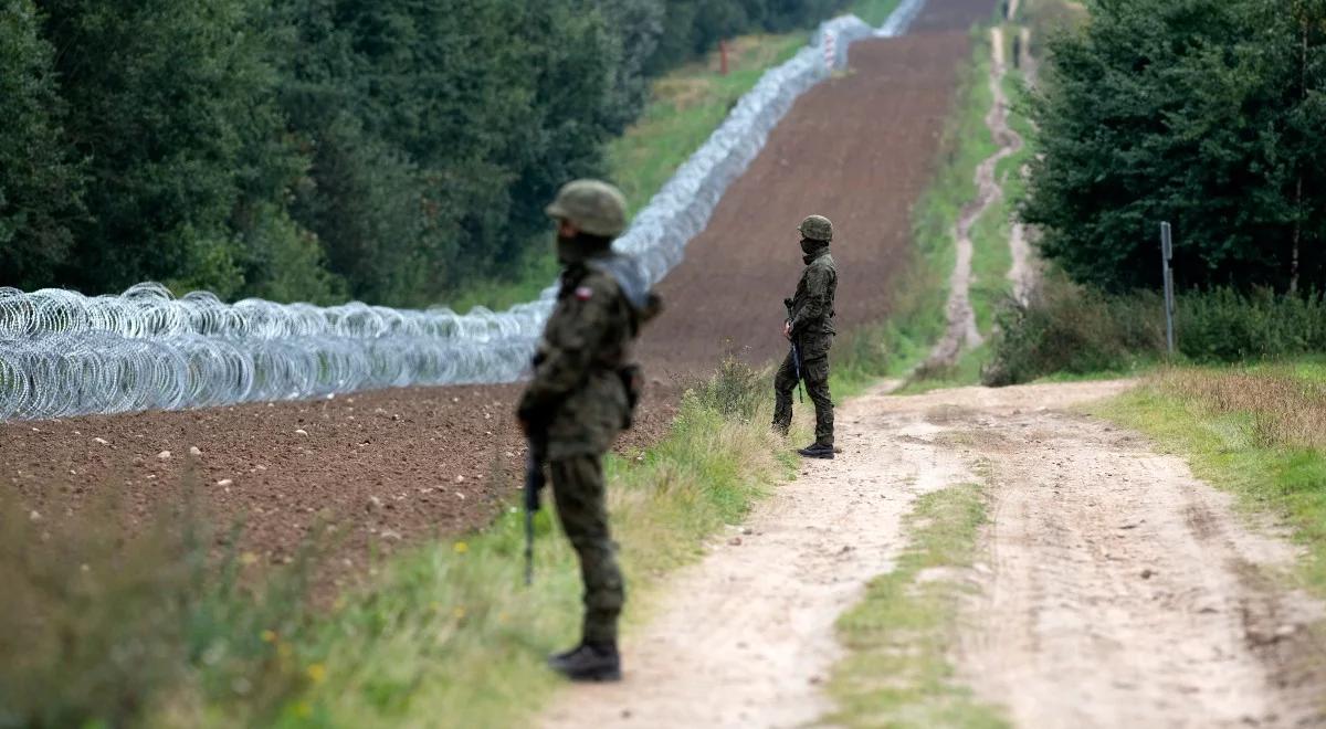
<instances>
[{"instance_id":1,"label":"smaller, farther soldier in camouflage standing at the road's edge","mask_svg":"<svg viewBox=\"0 0 1326 729\"><path fill-rule=\"evenodd\" d=\"M829 350L837 330L833 325L833 298L838 289L838 269L829 254L833 223L827 217L812 215L801 221L802 258L806 264L797 284L797 293L784 300L788 319L782 335L792 341L794 351L778 367L773 380L773 428L786 435L792 427L792 392L797 388L797 361L801 355L801 379L815 403L815 441L800 451L808 459L831 459L833 399L829 396Z\"/></svg>"}]
</instances>

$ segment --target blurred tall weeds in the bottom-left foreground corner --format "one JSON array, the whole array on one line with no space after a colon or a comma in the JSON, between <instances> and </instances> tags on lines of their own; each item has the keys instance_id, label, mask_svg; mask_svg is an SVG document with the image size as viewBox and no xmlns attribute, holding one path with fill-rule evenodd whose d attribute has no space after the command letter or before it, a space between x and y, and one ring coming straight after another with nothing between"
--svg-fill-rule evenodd
<instances>
[{"instance_id":1,"label":"blurred tall weeds in the bottom-left foreground corner","mask_svg":"<svg viewBox=\"0 0 1326 729\"><path fill-rule=\"evenodd\" d=\"M123 517L110 500L37 512L0 498L0 726L175 724L200 705L274 721L310 681L296 648L308 559L252 583L252 555L212 557L236 534L216 534L192 497L137 535Z\"/></svg>"}]
</instances>

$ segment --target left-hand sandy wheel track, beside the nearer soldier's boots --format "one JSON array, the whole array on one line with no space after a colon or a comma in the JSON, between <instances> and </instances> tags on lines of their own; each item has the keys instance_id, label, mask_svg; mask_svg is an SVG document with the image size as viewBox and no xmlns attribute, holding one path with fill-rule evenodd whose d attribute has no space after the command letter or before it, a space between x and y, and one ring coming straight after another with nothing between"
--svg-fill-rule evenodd
<instances>
[{"instance_id":1,"label":"left-hand sandy wheel track, beside the nearer soldier's boots","mask_svg":"<svg viewBox=\"0 0 1326 729\"><path fill-rule=\"evenodd\" d=\"M916 494L971 480L923 440L934 425L883 403L876 391L839 408L845 456L808 463L670 579L656 619L622 645L626 680L574 687L544 725L798 726L827 710L818 683L838 655L838 614L892 569Z\"/></svg>"}]
</instances>

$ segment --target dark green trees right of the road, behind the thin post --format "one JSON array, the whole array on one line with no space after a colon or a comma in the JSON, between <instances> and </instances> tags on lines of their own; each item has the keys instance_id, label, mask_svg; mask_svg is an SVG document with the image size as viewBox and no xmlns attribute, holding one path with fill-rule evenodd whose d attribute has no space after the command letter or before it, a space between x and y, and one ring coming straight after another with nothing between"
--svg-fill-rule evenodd
<instances>
[{"instance_id":1,"label":"dark green trees right of the road, behind the thin post","mask_svg":"<svg viewBox=\"0 0 1326 729\"><path fill-rule=\"evenodd\" d=\"M1022 211L1046 257L1158 288L1168 220L1181 289L1326 286L1322 0L1103 0L1049 49Z\"/></svg>"}]
</instances>

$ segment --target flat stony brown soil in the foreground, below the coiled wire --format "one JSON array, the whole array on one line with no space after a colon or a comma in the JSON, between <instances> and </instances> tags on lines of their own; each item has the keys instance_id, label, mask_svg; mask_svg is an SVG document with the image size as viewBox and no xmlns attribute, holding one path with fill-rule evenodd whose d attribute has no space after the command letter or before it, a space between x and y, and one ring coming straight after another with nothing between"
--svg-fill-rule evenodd
<instances>
[{"instance_id":1,"label":"flat stony brown soil in the foreground, below the coiled wire","mask_svg":"<svg viewBox=\"0 0 1326 729\"><path fill-rule=\"evenodd\" d=\"M675 392L656 383L618 451L667 431ZM109 498L131 529L192 488L221 532L243 521L245 549L273 563L290 558L316 524L332 522L341 545L332 567L343 571L362 567L370 545L389 553L493 517L524 473L512 416L518 395L514 384L407 388L5 423L0 482L44 518Z\"/></svg>"}]
</instances>

